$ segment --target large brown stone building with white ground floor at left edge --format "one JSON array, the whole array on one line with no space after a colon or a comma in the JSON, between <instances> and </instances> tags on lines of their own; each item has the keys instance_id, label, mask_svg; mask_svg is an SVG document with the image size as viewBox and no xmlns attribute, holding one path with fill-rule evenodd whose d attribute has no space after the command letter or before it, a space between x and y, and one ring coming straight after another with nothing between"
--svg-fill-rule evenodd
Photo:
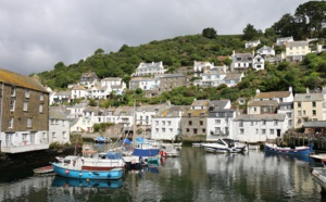
<instances>
[{"instance_id":1,"label":"large brown stone building with white ground floor at left edge","mask_svg":"<svg viewBox=\"0 0 326 202\"><path fill-rule=\"evenodd\" d=\"M0 70L1 152L49 148L49 92L37 78Z\"/></svg>"}]
</instances>

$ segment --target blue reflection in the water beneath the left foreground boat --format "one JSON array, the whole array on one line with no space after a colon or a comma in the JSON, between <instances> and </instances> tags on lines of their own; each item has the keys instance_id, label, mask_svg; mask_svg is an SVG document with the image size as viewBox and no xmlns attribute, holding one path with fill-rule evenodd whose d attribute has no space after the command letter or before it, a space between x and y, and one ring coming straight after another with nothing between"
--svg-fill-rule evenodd
<instances>
[{"instance_id":1,"label":"blue reflection in the water beneath the left foreground boat","mask_svg":"<svg viewBox=\"0 0 326 202\"><path fill-rule=\"evenodd\" d=\"M123 179L97 180L97 179L74 179L55 176L52 187L89 187L89 188L121 188Z\"/></svg>"}]
</instances>

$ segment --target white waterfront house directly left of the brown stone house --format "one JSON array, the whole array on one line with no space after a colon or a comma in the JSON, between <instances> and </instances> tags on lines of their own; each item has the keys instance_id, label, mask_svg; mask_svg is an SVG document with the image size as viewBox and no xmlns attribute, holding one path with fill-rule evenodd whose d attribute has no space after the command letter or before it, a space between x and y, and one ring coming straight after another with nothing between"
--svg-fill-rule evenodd
<instances>
[{"instance_id":1,"label":"white waterfront house directly left of the brown stone house","mask_svg":"<svg viewBox=\"0 0 326 202\"><path fill-rule=\"evenodd\" d=\"M176 105L158 113L152 117L151 139L174 140L181 134L181 116L189 109L185 105Z\"/></svg>"}]
</instances>

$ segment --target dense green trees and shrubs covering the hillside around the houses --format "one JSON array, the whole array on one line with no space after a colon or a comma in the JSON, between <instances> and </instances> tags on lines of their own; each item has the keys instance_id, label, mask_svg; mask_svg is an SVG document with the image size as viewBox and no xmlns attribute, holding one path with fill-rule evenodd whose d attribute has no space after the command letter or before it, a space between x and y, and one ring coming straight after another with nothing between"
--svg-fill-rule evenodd
<instances>
[{"instance_id":1,"label":"dense green trees and shrubs covering the hillside around the houses","mask_svg":"<svg viewBox=\"0 0 326 202\"><path fill-rule=\"evenodd\" d=\"M64 90L68 84L76 84L83 73L96 72L98 77L122 77L128 84L130 75L141 62L163 62L168 73L188 70L187 75L191 77L193 61L214 62L215 65L230 64L227 58L236 52L251 52L253 49L244 49L246 41L260 39L263 46L274 46L277 54L285 50L284 47L275 46L279 37L292 36L294 40L306 40L317 38L311 42L312 51L316 43L325 45L326 38L326 2L309 1L300 4L294 14L284 14L264 31L256 29L254 25L248 24L241 35L218 35L218 30L208 27L198 35L179 36L173 39L151 41L138 47L123 45L117 52L105 53L99 48L86 60L66 65L58 62L54 70L39 73L43 85L52 89ZM224 55L226 60L218 61ZM306 88L315 89L326 86L326 52L321 54L310 53L301 63L281 62L279 64L265 64L264 71L253 72L249 70L246 77L237 87L228 88L224 85L217 88L200 88L196 86L179 87L171 92L164 92L159 98L147 99L140 89L126 91L123 96L114 93L105 100L101 100L101 106L117 106L131 104L134 99L146 103L162 103L171 100L173 104L190 104L197 99L230 99L234 103L239 97L250 98L254 96L255 89L261 91L288 90L293 87L296 92L304 92ZM90 104L96 104L91 101ZM236 104L236 103L235 103Z\"/></svg>"}]
</instances>

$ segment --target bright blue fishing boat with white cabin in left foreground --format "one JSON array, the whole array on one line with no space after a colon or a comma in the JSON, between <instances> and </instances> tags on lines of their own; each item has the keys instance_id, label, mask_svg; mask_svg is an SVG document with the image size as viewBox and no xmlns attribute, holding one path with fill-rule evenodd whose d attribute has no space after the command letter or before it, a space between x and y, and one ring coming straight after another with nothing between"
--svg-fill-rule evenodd
<instances>
[{"instance_id":1,"label":"bright blue fishing boat with white cabin in left foreground","mask_svg":"<svg viewBox=\"0 0 326 202\"><path fill-rule=\"evenodd\" d=\"M124 168L113 167L103 169L102 166L92 166L92 168L83 168L85 159L71 155L60 162L51 163L57 175L77 179L120 179L123 177Z\"/></svg>"}]
</instances>

